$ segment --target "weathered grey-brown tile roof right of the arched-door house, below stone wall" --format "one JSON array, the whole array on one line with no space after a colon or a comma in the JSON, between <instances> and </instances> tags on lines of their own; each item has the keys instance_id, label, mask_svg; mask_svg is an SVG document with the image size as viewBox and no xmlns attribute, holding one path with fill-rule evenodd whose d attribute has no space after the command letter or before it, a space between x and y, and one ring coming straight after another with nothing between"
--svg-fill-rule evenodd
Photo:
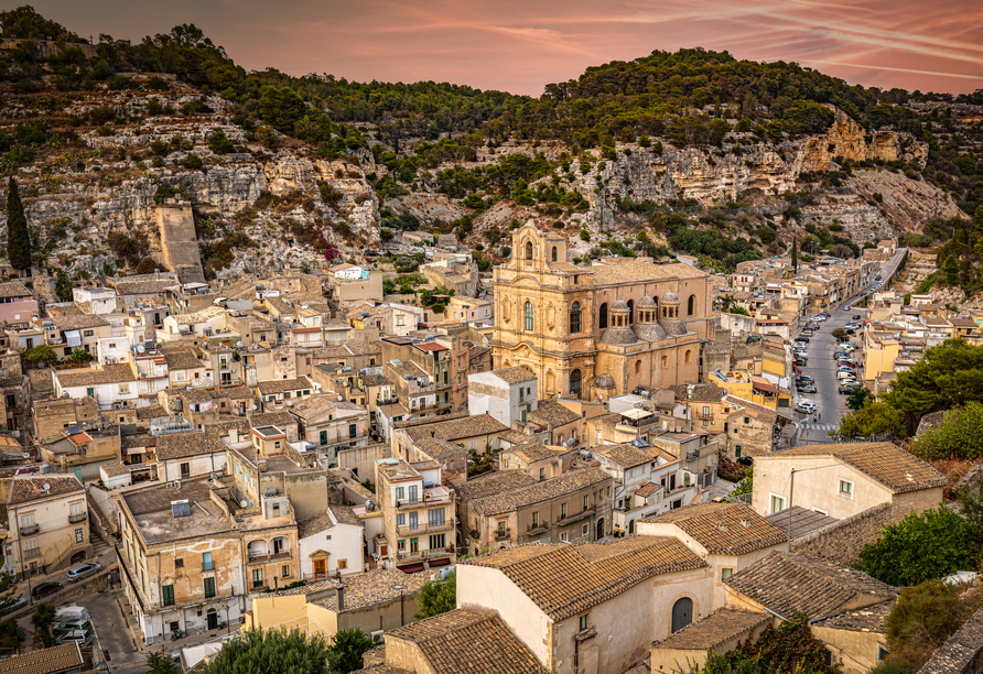
<instances>
[{"instance_id":1,"label":"weathered grey-brown tile roof right of the arched-door house, below stone wall","mask_svg":"<svg viewBox=\"0 0 983 674\"><path fill-rule=\"evenodd\" d=\"M847 604L871 606L897 596L895 588L863 572L804 553L773 552L725 583L785 618L793 611L827 618Z\"/></svg>"}]
</instances>

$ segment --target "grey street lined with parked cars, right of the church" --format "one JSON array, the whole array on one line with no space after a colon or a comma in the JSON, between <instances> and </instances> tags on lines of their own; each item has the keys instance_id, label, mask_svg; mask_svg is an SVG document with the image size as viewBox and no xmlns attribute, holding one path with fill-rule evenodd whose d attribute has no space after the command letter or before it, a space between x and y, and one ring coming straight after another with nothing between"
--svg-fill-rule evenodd
<instances>
[{"instance_id":1,"label":"grey street lined with parked cars, right of the church","mask_svg":"<svg viewBox=\"0 0 983 674\"><path fill-rule=\"evenodd\" d=\"M904 253L904 249L898 250L888 262L882 265L881 275L883 279L886 280L895 273ZM844 327L856 315L860 315L862 319L866 319L866 309L850 307L855 302L873 293L875 284L867 286L835 307L828 309L830 318L821 322L820 329L813 333L810 338L807 348L809 354L808 365L799 369L802 371L802 374L815 378L817 392L797 395L796 402L802 399L813 401L821 416L817 422L813 422L812 415L792 412L799 426L798 433L792 438L792 446L831 442L830 431L836 431L840 427L840 420L850 411L846 407L847 396L841 395L839 392L840 383L836 380L836 361L834 359L836 340L833 339L833 330ZM857 346L853 360L858 362L861 360L858 351L863 346L863 339L857 336L852 341Z\"/></svg>"}]
</instances>

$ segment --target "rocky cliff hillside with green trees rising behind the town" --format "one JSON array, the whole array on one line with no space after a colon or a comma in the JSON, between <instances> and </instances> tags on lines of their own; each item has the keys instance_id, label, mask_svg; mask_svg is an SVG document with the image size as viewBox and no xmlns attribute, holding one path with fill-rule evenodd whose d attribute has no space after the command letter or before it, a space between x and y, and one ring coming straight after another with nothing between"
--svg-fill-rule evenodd
<instances>
[{"instance_id":1,"label":"rocky cliff hillside with green trees rising behind the town","mask_svg":"<svg viewBox=\"0 0 983 674\"><path fill-rule=\"evenodd\" d=\"M528 219L577 258L665 244L726 270L793 237L858 254L983 203L979 96L683 50L529 99L246 73L193 25L97 45L24 8L0 25L0 166L39 262L74 276L160 264L168 206L210 278L358 257L400 228L495 261Z\"/></svg>"}]
</instances>

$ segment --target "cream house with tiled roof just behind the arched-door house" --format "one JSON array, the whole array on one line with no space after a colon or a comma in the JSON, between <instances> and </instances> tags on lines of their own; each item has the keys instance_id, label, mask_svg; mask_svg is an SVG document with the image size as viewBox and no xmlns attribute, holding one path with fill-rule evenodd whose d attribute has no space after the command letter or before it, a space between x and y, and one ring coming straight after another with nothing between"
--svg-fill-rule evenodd
<instances>
[{"instance_id":1,"label":"cream house with tiled roof just behind the arched-door house","mask_svg":"<svg viewBox=\"0 0 983 674\"><path fill-rule=\"evenodd\" d=\"M638 535L672 536L713 572L714 608L726 601L724 581L771 552L787 552L786 532L744 503L696 503L645 518Z\"/></svg>"}]
</instances>

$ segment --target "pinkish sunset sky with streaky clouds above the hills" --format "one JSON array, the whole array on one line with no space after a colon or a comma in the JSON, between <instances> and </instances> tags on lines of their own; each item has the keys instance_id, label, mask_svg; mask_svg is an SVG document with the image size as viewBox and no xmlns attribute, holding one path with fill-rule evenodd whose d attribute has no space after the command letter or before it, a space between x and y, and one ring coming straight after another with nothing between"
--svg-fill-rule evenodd
<instances>
[{"instance_id":1,"label":"pinkish sunset sky with streaky clouds above the hills","mask_svg":"<svg viewBox=\"0 0 983 674\"><path fill-rule=\"evenodd\" d=\"M983 88L980 0L30 0L79 35L194 23L247 69L540 96L609 61L702 46L851 84Z\"/></svg>"}]
</instances>

